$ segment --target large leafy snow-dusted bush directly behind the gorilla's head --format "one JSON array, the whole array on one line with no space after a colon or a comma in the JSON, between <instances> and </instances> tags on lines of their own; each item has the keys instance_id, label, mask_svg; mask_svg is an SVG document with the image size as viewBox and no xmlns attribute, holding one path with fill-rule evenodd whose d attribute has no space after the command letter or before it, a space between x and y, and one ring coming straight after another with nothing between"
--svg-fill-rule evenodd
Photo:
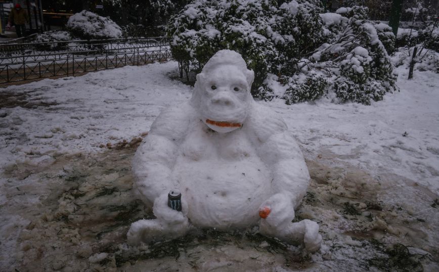
<instances>
[{"instance_id":1,"label":"large leafy snow-dusted bush directly behind the gorilla's head","mask_svg":"<svg viewBox=\"0 0 439 272\"><path fill-rule=\"evenodd\" d=\"M255 71L255 94L268 72L294 74L303 52L322 42L319 11L306 1L279 9L270 0L196 1L170 20L171 50L175 59L190 60L196 70L220 49L239 52Z\"/></svg>"}]
</instances>

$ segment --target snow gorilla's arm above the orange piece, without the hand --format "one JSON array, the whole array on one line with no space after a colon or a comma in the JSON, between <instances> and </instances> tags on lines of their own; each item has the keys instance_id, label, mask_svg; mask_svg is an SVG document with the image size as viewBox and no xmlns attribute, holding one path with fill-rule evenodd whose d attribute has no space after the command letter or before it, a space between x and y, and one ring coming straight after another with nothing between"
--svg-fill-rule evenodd
<instances>
[{"instance_id":1,"label":"snow gorilla's arm above the orange piece, without the hand","mask_svg":"<svg viewBox=\"0 0 439 272\"><path fill-rule=\"evenodd\" d=\"M297 207L308 189L310 174L286 124L271 109L256 104L250 117L258 155L272 170L273 195ZM287 203L285 203L287 204ZM291 205L289 204L289 205Z\"/></svg>"}]
</instances>

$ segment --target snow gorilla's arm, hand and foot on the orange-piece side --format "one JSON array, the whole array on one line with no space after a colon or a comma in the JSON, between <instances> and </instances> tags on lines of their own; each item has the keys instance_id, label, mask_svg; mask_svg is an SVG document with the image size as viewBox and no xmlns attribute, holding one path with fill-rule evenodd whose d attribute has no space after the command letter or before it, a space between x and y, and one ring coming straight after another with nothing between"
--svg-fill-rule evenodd
<instances>
[{"instance_id":1,"label":"snow gorilla's arm, hand and foot on the orange-piece side","mask_svg":"<svg viewBox=\"0 0 439 272\"><path fill-rule=\"evenodd\" d=\"M287 242L303 241L310 252L319 250L319 225L305 219L292 222L294 208L302 201L310 182L303 155L287 126L270 109L255 107L252 117L260 158L272 170L273 195L259 207L259 232Z\"/></svg>"}]
</instances>

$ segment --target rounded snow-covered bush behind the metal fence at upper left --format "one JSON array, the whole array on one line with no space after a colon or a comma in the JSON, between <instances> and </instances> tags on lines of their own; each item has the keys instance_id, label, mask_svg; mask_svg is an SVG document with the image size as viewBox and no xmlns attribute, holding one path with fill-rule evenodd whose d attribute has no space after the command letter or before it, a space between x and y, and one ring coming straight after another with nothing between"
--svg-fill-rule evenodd
<instances>
[{"instance_id":1,"label":"rounded snow-covered bush behind the metal fence at upper left","mask_svg":"<svg viewBox=\"0 0 439 272\"><path fill-rule=\"evenodd\" d=\"M109 39L122 36L120 27L111 19L85 10L70 16L67 29L81 39Z\"/></svg>"}]
</instances>

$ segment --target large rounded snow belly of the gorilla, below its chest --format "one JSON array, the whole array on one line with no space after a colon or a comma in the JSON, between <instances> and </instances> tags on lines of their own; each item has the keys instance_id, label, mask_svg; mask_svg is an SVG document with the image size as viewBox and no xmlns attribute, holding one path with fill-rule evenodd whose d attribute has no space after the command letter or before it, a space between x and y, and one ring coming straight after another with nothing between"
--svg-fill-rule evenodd
<instances>
[{"instance_id":1,"label":"large rounded snow belly of the gorilla, below its chest","mask_svg":"<svg viewBox=\"0 0 439 272\"><path fill-rule=\"evenodd\" d=\"M259 218L258 208L269 196L271 174L257 157L246 160L193 161L178 159L173 175L186 198L195 226L245 228Z\"/></svg>"}]
</instances>

